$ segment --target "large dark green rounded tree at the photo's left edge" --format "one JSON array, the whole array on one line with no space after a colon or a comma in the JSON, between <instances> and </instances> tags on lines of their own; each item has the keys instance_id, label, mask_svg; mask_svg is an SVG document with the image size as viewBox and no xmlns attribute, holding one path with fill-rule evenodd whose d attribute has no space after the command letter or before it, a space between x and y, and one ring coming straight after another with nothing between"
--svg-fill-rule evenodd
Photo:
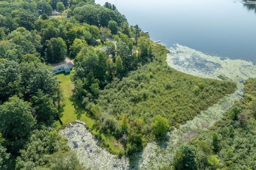
<instances>
[{"instance_id":1,"label":"large dark green rounded tree at the photo's left edge","mask_svg":"<svg viewBox=\"0 0 256 170\"><path fill-rule=\"evenodd\" d=\"M16 154L25 144L36 124L30 111L29 103L17 96L11 97L0 106L0 131L3 137L9 141L11 151Z\"/></svg>"}]
</instances>

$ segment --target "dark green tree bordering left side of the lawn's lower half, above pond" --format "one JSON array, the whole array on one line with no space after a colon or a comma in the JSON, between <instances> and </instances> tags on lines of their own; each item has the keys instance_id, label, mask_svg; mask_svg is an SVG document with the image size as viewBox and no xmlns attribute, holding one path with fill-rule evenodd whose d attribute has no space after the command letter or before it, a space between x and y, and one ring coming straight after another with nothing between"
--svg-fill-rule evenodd
<instances>
[{"instance_id":1,"label":"dark green tree bordering left side of the lawn's lower half, above pond","mask_svg":"<svg viewBox=\"0 0 256 170\"><path fill-rule=\"evenodd\" d=\"M31 102L35 109L36 119L39 122L52 121L54 116L58 114L58 110L53 105L51 96L43 94L42 90L39 90L31 98Z\"/></svg>"}]
</instances>

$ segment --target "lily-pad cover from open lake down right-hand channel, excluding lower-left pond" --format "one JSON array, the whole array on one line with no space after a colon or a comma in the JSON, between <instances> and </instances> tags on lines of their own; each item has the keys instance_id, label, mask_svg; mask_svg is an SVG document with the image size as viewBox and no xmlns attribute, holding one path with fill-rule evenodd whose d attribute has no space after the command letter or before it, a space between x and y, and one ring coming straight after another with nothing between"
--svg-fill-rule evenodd
<instances>
[{"instance_id":1,"label":"lily-pad cover from open lake down right-hand channel, excluding lower-left pond","mask_svg":"<svg viewBox=\"0 0 256 170\"><path fill-rule=\"evenodd\" d=\"M166 61L174 69L199 77L219 79L219 75L225 75L237 83L237 90L193 120L181 125L179 129L172 131L165 147L149 143L142 152L139 161L140 169L170 165L178 146L188 143L191 138L211 128L234 105L235 101L241 99L244 93L242 83L248 78L256 77L256 66L252 62L228 58L222 60L220 57L206 55L181 45L170 49ZM205 67L201 67L202 65ZM218 66L215 67L216 65Z\"/></svg>"}]
</instances>

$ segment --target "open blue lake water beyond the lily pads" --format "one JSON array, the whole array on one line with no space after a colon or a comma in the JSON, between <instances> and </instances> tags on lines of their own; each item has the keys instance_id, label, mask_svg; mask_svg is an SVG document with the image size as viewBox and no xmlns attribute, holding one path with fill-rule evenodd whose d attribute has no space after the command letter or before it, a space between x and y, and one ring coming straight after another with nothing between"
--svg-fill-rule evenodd
<instances>
[{"instance_id":1,"label":"open blue lake water beyond the lily pads","mask_svg":"<svg viewBox=\"0 0 256 170\"><path fill-rule=\"evenodd\" d=\"M104 4L106 0L96 0ZM237 0L108 0L130 24L167 47L180 44L209 55L256 64L256 7Z\"/></svg>"}]
</instances>

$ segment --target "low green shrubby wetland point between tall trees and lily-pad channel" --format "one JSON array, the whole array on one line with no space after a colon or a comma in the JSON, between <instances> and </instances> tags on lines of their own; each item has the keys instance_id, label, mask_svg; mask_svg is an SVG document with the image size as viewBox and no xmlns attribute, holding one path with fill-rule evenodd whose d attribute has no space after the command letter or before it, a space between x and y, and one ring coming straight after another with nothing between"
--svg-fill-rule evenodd
<instances>
[{"instance_id":1,"label":"low green shrubby wetland point between tall trees and lily-pad channel","mask_svg":"<svg viewBox=\"0 0 256 170\"><path fill-rule=\"evenodd\" d=\"M174 70L165 61L165 47L154 45L153 50L157 56L154 62L108 84L97 100L102 111L117 121L126 114L131 131L138 128L139 121L142 135L151 134L157 115L169 121L169 130L178 128L236 89L231 81L199 78Z\"/></svg>"}]
</instances>

